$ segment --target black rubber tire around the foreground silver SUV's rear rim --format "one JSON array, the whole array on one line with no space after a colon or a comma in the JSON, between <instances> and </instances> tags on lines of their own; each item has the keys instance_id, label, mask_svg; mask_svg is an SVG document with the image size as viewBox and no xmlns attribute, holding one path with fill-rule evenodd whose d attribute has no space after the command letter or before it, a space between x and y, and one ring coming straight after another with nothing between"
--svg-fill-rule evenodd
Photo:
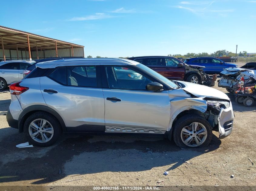
<instances>
[{"instance_id":1,"label":"black rubber tire around the foreground silver SUV's rear rim","mask_svg":"<svg viewBox=\"0 0 256 191\"><path fill-rule=\"evenodd\" d=\"M53 136L48 142L44 142L44 143L37 142L34 139L32 139L32 137L29 135L30 123L36 119L45 119L52 125ZM50 145L53 145L59 138L61 134L61 126L60 126L60 123L58 122L58 119L56 119L53 115L44 111L39 111L39 112L33 113L31 116L29 116L26 119L24 123L24 132L26 134L26 137L28 138L28 142L31 145L39 146L39 147L48 147Z\"/></svg>"}]
</instances>

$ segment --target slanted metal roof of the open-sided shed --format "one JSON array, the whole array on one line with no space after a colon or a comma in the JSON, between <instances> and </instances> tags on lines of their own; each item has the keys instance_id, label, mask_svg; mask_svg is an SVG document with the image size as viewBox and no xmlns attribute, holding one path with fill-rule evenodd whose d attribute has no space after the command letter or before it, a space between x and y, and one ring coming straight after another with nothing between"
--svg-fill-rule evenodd
<instances>
[{"instance_id":1,"label":"slanted metal roof of the open-sided shed","mask_svg":"<svg viewBox=\"0 0 256 191\"><path fill-rule=\"evenodd\" d=\"M16 45L18 46L18 49L28 48L27 36L29 37L31 50L36 50L36 45L38 48L40 49L42 48L42 50L55 49L56 47L55 42L57 43L58 49L71 48L72 45L73 45L73 48L84 47L82 45L69 43L69 42L65 42L62 40L57 40L49 37L44 37L41 35L25 32L22 30L17 30L9 27L4 27L0 25L0 37L3 38L5 49L16 49Z\"/></svg>"}]
</instances>

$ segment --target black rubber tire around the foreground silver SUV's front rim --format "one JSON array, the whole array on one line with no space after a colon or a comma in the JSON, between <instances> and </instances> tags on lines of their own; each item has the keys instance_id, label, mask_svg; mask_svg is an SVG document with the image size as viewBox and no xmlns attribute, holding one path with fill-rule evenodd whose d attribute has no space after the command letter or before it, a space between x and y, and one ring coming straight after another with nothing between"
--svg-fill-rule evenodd
<instances>
[{"instance_id":1,"label":"black rubber tire around the foreground silver SUV's front rim","mask_svg":"<svg viewBox=\"0 0 256 191\"><path fill-rule=\"evenodd\" d=\"M212 128L209 122L202 116L198 115L185 115L179 118L174 124L173 129L173 140L178 147L181 148L189 148L191 146L185 145L185 143L181 140L181 130L183 127L189 126L191 123L197 122L204 125L207 130L207 137L204 142L199 146L194 146L196 148L201 148L207 146L211 142L212 138ZM197 135L196 135L197 136Z\"/></svg>"}]
</instances>

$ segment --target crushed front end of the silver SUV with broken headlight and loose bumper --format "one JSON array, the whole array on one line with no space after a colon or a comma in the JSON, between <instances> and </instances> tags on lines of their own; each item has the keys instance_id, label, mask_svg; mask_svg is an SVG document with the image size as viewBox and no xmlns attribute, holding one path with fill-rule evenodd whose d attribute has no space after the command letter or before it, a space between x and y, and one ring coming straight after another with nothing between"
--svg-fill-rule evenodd
<instances>
[{"instance_id":1,"label":"crushed front end of the silver SUV with broken headlight and loose bumper","mask_svg":"<svg viewBox=\"0 0 256 191\"><path fill-rule=\"evenodd\" d=\"M207 110L204 112L204 116L213 127L213 130L219 132L220 139L230 135L234 120L231 101L209 98L205 98L205 100L207 100Z\"/></svg>"}]
</instances>

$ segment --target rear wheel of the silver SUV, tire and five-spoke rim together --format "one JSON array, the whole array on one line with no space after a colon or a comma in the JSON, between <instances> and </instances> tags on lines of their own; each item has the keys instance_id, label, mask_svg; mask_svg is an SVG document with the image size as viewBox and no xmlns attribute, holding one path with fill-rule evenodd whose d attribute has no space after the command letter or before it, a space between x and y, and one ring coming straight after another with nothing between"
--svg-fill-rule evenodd
<instances>
[{"instance_id":1,"label":"rear wheel of the silver SUV, tire and five-spoke rim together","mask_svg":"<svg viewBox=\"0 0 256 191\"><path fill-rule=\"evenodd\" d=\"M24 132L30 144L47 147L57 141L61 130L54 116L47 112L37 112L26 119Z\"/></svg>"}]
</instances>

